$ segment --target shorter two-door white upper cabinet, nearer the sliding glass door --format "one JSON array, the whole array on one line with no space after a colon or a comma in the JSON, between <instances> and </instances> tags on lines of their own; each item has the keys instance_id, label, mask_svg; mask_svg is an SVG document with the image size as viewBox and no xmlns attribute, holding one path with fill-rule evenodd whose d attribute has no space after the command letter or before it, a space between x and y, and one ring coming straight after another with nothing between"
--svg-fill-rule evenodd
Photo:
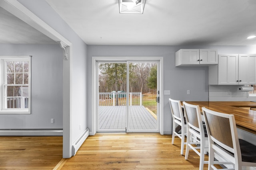
<instances>
[{"instance_id":1,"label":"shorter two-door white upper cabinet, nearer the sliding glass door","mask_svg":"<svg viewBox=\"0 0 256 170\"><path fill-rule=\"evenodd\" d=\"M180 49L175 53L175 66L210 66L218 64L218 51L212 49Z\"/></svg>"}]
</instances>

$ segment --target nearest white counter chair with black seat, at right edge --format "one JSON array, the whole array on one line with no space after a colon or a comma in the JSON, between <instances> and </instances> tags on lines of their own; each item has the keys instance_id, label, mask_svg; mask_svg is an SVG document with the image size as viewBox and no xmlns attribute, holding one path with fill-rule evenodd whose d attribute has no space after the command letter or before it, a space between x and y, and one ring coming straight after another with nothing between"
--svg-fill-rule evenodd
<instances>
[{"instance_id":1,"label":"nearest white counter chair with black seat, at right edge","mask_svg":"<svg viewBox=\"0 0 256 170\"><path fill-rule=\"evenodd\" d=\"M242 170L242 166L256 166L256 146L238 139L235 117L202 107L209 139L208 170L222 164L228 170ZM218 161L214 157L218 155Z\"/></svg>"}]
</instances>

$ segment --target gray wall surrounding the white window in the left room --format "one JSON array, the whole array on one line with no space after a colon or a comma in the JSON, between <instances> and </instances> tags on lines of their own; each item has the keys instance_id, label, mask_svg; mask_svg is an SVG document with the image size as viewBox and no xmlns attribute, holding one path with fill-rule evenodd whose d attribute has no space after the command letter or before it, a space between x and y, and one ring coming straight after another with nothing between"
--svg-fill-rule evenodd
<instances>
[{"instance_id":1,"label":"gray wall surrounding the white window in the left room","mask_svg":"<svg viewBox=\"0 0 256 170\"><path fill-rule=\"evenodd\" d=\"M62 59L59 45L0 45L0 55L32 55L31 114L0 114L0 129L62 128ZM54 118L54 123L50 119Z\"/></svg>"}]
</instances>

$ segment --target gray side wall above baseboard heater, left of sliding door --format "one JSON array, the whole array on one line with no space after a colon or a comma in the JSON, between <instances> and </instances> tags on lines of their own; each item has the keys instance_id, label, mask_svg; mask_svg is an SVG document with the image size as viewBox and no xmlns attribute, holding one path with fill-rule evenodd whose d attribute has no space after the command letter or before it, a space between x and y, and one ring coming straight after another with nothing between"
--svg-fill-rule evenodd
<instances>
[{"instance_id":1,"label":"gray side wall above baseboard heater, left of sliding door","mask_svg":"<svg viewBox=\"0 0 256 170\"><path fill-rule=\"evenodd\" d=\"M72 125L70 129L72 131L71 143L74 143L88 127L86 120L87 45L45 0L18 0L18 2L72 43Z\"/></svg>"}]
</instances>

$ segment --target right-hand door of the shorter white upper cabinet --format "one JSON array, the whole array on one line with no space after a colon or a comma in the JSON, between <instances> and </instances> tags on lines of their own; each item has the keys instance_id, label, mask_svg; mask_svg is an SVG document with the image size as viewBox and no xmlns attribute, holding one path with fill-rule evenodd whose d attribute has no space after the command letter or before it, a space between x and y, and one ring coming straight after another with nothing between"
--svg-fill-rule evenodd
<instances>
[{"instance_id":1,"label":"right-hand door of the shorter white upper cabinet","mask_svg":"<svg viewBox=\"0 0 256 170\"><path fill-rule=\"evenodd\" d=\"M200 64L218 64L218 50L200 49Z\"/></svg>"}]
</instances>

